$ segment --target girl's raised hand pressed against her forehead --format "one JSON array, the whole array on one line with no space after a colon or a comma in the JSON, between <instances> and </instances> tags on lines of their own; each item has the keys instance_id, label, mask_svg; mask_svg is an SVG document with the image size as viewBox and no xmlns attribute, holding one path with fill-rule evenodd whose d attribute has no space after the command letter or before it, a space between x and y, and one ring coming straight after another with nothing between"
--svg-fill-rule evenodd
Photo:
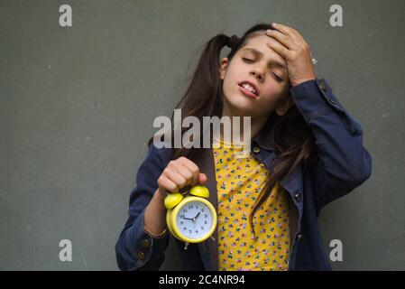
<instances>
[{"instance_id":1,"label":"girl's raised hand pressed against her forehead","mask_svg":"<svg viewBox=\"0 0 405 289\"><path fill-rule=\"evenodd\" d=\"M308 43L295 29L279 23L272 23L276 29L267 30L271 37L267 46L278 53L286 62L292 87L316 79L311 52Z\"/></svg>"}]
</instances>

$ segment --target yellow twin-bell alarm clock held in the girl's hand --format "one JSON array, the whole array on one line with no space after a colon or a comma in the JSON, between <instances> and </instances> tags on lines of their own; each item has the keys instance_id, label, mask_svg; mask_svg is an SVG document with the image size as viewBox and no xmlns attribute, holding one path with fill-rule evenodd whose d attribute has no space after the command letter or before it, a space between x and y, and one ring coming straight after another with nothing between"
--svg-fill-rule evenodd
<instances>
[{"instance_id":1,"label":"yellow twin-bell alarm clock held in the girl's hand","mask_svg":"<svg viewBox=\"0 0 405 289\"><path fill-rule=\"evenodd\" d=\"M175 238L185 242L184 249L187 249L189 243L213 238L211 235L216 228L217 218L216 210L207 200L208 197L207 187L197 185L186 196L174 192L169 193L164 200L167 226Z\"/></svg>"}]
</instances>

